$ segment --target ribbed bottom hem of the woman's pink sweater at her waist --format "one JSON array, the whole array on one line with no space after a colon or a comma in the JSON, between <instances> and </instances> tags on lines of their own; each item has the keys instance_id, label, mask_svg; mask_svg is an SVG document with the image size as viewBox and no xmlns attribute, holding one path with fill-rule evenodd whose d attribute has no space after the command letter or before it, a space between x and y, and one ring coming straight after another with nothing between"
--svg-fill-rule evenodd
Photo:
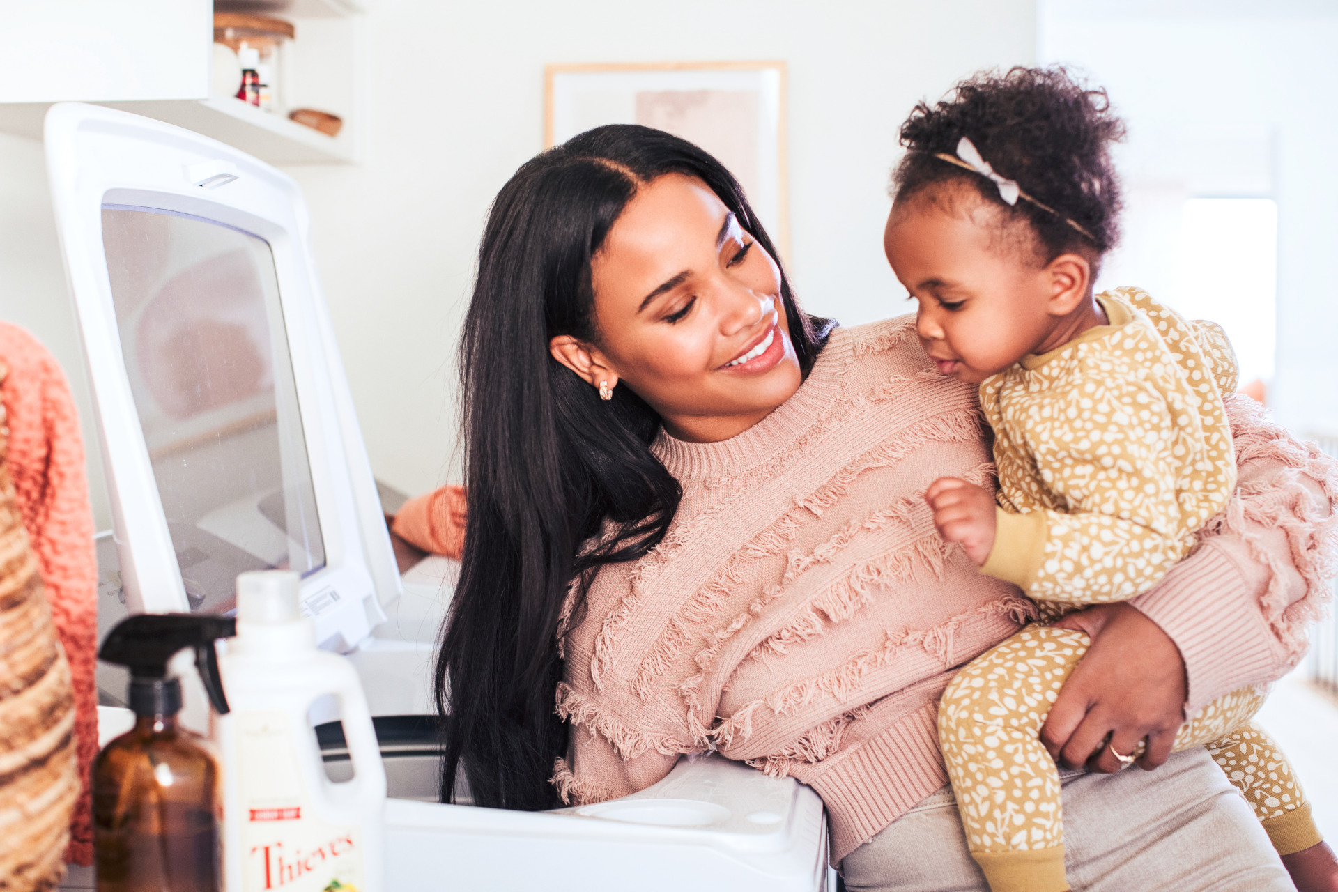
<instances>
[{"instance_id":1,"label":"ribbed bottom hem of the woman's pink sweater at her waist","mask_svg":"<svg viewBox=\"0 0 1338 892\"><path fill-rule=\"evenodd\" d=\"M804 778L831 818L832 863L947 784L938 749L938 698Z\"/></svg>"}]
</instances>

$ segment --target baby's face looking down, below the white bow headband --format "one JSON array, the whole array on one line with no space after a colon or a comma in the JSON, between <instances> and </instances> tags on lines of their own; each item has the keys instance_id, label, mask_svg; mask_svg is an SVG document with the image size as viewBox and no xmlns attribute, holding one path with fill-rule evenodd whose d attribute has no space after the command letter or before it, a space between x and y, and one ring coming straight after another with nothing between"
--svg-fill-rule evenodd
<instances>
[{"instance_id":1,"label":"baby's face looking down, below the white bow headband","mask_svg":"<svg viewBox=\"0 0 1338 892\"><path fill-rule=\"evenodd\" d=\"M966 190L917 195L887 218L883 249L919 304L921 344L938 370L979 384L1049 334L1052 280L1030 246L1010 243L990 206Z\"/></svg>"}]
</instances>

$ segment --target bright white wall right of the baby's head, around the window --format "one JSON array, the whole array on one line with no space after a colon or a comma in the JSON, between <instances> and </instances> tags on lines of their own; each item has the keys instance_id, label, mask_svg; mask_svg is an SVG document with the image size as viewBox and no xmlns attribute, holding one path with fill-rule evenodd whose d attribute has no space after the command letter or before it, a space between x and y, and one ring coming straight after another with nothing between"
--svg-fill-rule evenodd
<instances>
[{"instance_id":1,"label":"bright white wall right of the baby's head, around the window","mask_svg":"<svg viewBox=\"0 0 1338 892\"><path fill-rule=\"evenodd\" d=\"M1169 281L1173 241L1140 227L1184 198L1278 202L1268 403L1302 435L1338 432L1334 47L1338 8L1322 0L1048 0L1041 12L1041 58L1080 64L1129 122L1128 284Z\"/></svg>"}]
</instances>

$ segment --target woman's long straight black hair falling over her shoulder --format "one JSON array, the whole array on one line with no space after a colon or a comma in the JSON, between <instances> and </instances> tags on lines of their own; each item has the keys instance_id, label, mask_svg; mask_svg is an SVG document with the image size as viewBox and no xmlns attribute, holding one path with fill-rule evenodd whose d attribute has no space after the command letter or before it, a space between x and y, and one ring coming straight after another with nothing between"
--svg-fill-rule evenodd
<instances>
[{"instance_id":1,"label":"woman's long straight black hair falling over her shoulder","mask_svg":"<svg viewBox=\"0 0 1338 892\"><path fill-rule=\"evenodd\" d=\"M626 386L602 401L549 353L559 334L597 342L591 259L637 190L665 174L705 183L780 263L729 171L649 127L610 124L550 148L492 202L459 356L468 522L434 685L443 801L462 797L463 769L476 805L557 805L563 600L601 566L649 551L678 507L649 448L660 416ZM830 324L780 281L807 372Z\"/></svg>"}]
</instances>

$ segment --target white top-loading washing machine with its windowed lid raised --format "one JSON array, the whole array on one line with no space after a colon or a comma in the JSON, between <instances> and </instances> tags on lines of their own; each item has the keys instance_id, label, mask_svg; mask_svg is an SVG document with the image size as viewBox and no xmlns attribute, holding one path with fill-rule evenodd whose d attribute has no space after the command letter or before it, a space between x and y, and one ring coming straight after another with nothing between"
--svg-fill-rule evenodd
<instances>
[{"instance_id":1,"label":"white top-loading washing machine with its windowed lid raised","mask_svg":"<svg viewBox=\"0 0 1338 892\"><path fill-rule=\"evenodd\" d=\"M115 523L102 634L127 612L226 614L238 572L300 571L321 646L356 663L377 717L385 889L828 888L818 796L719 756L583 808L438 802L431 667L454 568L400 575L297 185L96 106L52 107L45 143ZM124 678L102 666L99 687L110 734ZM337 733L312 745L339 780ZM94 888L91 871L66 888Z\"/></svg>"}]
</instances>

